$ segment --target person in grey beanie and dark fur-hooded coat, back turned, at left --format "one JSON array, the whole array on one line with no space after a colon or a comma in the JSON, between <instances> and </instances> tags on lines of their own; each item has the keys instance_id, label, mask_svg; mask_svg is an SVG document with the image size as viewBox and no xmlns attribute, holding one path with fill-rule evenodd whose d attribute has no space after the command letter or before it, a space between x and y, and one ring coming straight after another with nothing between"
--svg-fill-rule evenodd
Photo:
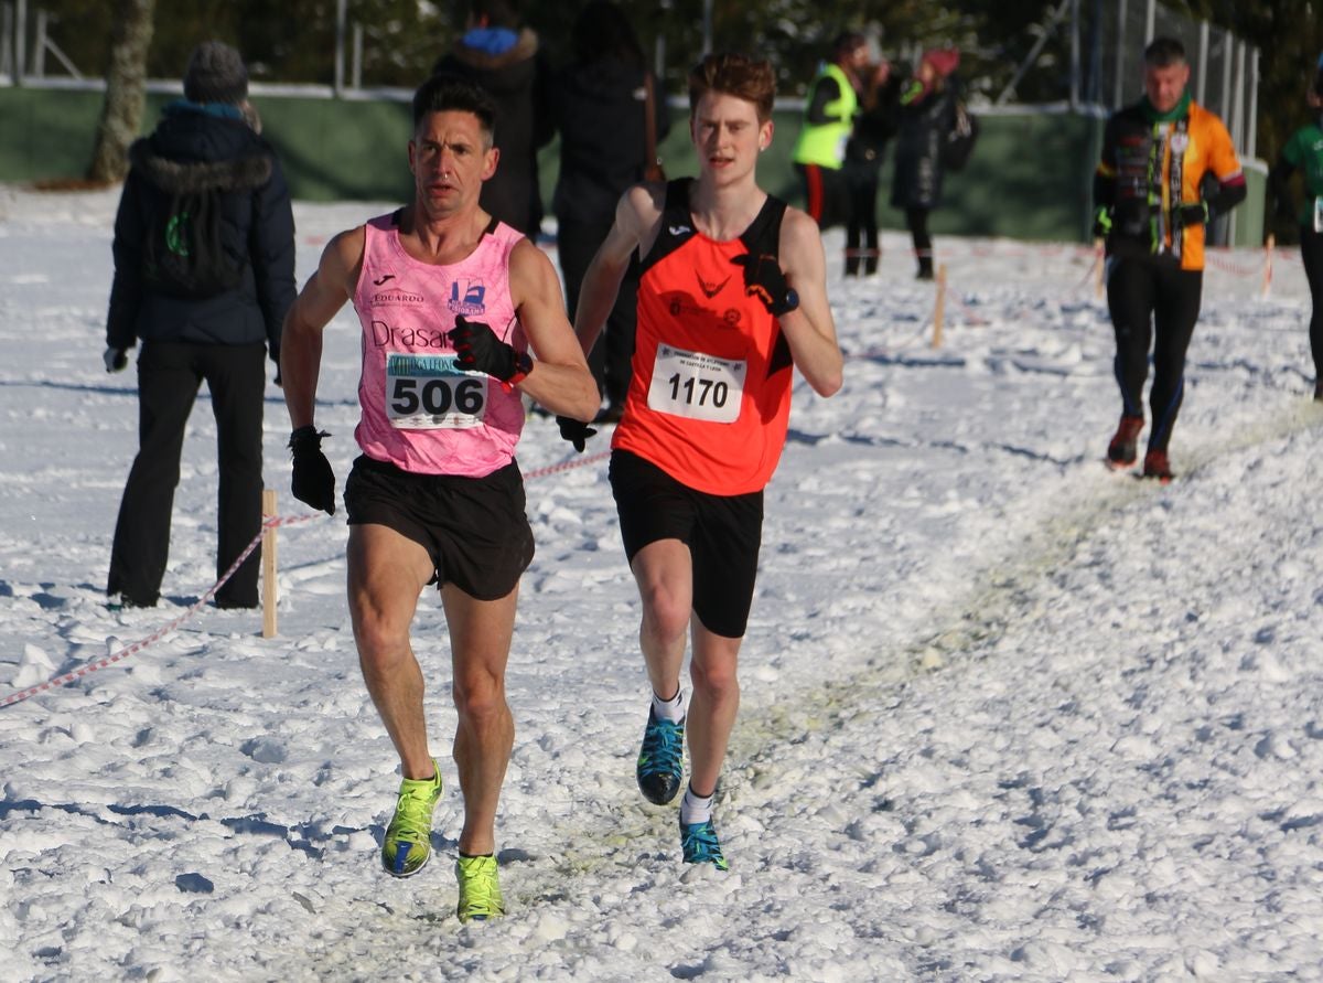
<instances>
[{"instance_id":1,"label":"person in grey beanie and dark fur-hooded coat, back turned, at left","mask_svg":"<svg viewBox=\"0 0 1323 983\"><path fill-rule=\"evenodd\" d=\"M255 121L243 60L225 44L205 41L189 58L184 99L168 105L156 130L130 148L115 216L105 354L106 371L122 371L142 339L139 450L119 506L106 588L123 604L159 600L184 427L204 379L220 444L218 579L262 526L263 356L279 364L295 289L290 192ZM212 258L232 268L237 284L196 287L200 293L191 295L193 287L161 280L155 240L176 232L168 219L180 196L209 189L218 191L220 249ZM254 551L217 590L216 604L257 607L258 570Z\"/></svg>"}]
</instances>

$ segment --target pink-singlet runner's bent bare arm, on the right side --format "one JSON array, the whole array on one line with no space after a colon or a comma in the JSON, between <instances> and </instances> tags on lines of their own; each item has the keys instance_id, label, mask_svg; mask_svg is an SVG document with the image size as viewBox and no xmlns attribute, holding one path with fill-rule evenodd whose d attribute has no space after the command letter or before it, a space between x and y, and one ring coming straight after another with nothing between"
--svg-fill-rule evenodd
<instances>
[{"instance_id":1,"label":"pink-singlet runner's bent bare arm, on the right side","mask_svg":"<svg viewBox=\"0 0 1323 983\"><path fill-rule=\"evenodd\" d=\"M550 412L587 423L601 405L597 383L565 317L556 270L546 253L527 238L509 257L509 291L537 356L519 388Z\"/></svg>"}]
</instances>

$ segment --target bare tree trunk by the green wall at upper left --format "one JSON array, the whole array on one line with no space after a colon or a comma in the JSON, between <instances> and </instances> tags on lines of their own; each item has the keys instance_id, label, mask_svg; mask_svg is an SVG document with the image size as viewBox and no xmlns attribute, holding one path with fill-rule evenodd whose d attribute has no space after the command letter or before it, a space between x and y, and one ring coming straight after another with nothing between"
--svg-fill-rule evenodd
<instances>
[{"instance_id":1,"label":"bare tree trunk by the green wall at upper left","mask_svg":"<svg viewBox=\"0 0 1323 983\"><path fill-rule=\"evenodd\" d=\"M97 125L89 180L111 183L128 174L128 144L143 125L147 102L147 48L156 0L119 0L106 72L106 102Z\"/></svg>"}]
</instances>

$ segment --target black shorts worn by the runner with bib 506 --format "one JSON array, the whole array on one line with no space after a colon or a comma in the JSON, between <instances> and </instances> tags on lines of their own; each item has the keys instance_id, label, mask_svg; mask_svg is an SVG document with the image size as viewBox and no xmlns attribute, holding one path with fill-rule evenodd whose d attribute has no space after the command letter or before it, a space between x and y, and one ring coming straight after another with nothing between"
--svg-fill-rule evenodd
<instances>
[{"instance_id":1,"label":"black shorts worn by the runner with bib 506","mask_svg":"<svg viewBox=\"0 0 1323 983\"><path fill-rule=\"evenodd\" d=\"M386 526L427 550L435 574L478 600L515 590L533 562L524 477L511 461L484 478L411 474L360 454L344 485L351 526Z\"/></svg>"}]
</instances>

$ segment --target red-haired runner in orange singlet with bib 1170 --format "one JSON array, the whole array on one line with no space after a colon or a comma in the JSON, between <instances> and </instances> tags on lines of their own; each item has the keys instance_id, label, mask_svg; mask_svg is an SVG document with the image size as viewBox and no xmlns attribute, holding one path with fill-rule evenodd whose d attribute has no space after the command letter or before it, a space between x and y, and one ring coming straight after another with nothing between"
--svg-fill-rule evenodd
<instances>
[{"instance_id":1,"label":"red-haired runner in orange singlet with bib 1170","mask_svg":"<svg viewBox=\"0 0 1323 983\"><path fill-rule=\"evenodd\" d=\"M611 488L643 601L639 644L652 702L638 759L643 795L680 791L685 862L728 869L712 799L740 703L736 664L749 619L762 490L777 469L798 367L830 396L841 355L818 225L758 187L771 143L775 78L765 61L712 54L689 74L699 178L638 184L579 291L576 330L590 351L638 252L638 338ZM593 433L569 419L578 449ZM685 636L693 640L685 707Z\"/></svg>"}]
</instances>

